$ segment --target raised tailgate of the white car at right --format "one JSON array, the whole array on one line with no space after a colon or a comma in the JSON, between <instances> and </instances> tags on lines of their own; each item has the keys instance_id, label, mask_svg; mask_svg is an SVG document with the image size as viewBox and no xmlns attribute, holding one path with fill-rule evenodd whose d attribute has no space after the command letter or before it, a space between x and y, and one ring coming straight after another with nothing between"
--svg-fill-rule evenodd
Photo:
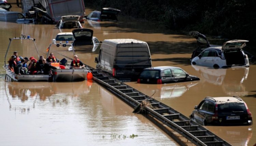
<instances>
[{"instance_id":1,"label":"raised tailgate of the white car at right","mask_svg":"<svg viewBox=\"0 0 256 146\"><path fill-rule=\"evenodd\" d=\"M222 50L240 50L246 46L246 42L249 42L248 40L230 40L223 44Z\"/></svg>"}]
</instances>

